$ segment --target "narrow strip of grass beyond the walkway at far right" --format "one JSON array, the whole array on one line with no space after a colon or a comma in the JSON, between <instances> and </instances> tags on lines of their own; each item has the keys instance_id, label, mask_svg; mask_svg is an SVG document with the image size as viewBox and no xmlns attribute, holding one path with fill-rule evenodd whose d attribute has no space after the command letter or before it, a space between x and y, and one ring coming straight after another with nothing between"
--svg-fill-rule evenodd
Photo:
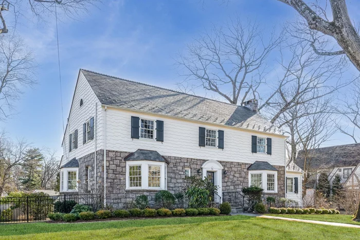
<instances>
[{"instance_id":1,"label":"narrow strip of grass beyond the walkway at far right","mask_svg":"<svg viewBox=\"0 0 360 240\"><path fill-rule=\"evenodd\" d=\"M351 220L352 215L345 214L334 214L334 215L322 215L322 214L266 214L269 216L276 217L289 217L296 219L307 219L307 220L316 220L316 221L330 221L332 223L341 223L341 224L354 224L360 225L360 222Z\"/></svg>"}]
</instances>

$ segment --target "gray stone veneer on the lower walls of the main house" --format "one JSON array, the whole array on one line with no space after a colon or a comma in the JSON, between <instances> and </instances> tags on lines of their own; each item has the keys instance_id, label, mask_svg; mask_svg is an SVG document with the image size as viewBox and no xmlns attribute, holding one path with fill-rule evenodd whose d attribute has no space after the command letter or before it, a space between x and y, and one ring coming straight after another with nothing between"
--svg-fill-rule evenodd
<instances>
[{"instance_id":1,"label":"gray stone veneer on the lower walls of the main house","mask_svg":"<svg viewBox=\"0 0 360 240\"><path fill-rule=\"evenodd\" d=\"M97 193L103 192L103 150L97 151ZM126 163L123 160L129 152L106 151L106 203L115 208L127 208L138 195L149 196L150 203L153 204L154 195L158 190L125 190L125 171ZM183 179L185 178L184 168L191 169L191 176L197 175L197 170L207 160L164 156L168 161L168 190L172 193L181 191ZM79 161L79 193L88 193L85 183L85 167L91 167L91 192L95 193L94 179L94 153L88 154ZM247 168L250 163L219 161L226 171L226 177L222 178L222 191L241 192L243 187L248 186ZM284 166L274 166L278 170L278 193L265 194L285 196L285 168ZM101 190L101 191L100 191Z\"/></svg>"}]
</instances>

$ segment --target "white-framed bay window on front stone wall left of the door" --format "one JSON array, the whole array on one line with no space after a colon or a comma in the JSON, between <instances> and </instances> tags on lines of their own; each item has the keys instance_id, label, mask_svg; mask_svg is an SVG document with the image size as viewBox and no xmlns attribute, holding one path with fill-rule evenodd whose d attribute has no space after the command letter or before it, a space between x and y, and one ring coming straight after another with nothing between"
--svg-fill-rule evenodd
<instances>
[{"instance_id":1,"label":"white-framed bay window on front stone wall left of the door","mask_svg":"<svg viewBox=\"0 0 360 240\"><path fill-rule=\"evenodd\" d=\"M127 161L126 189L167 189L167 163L158 161Z\"/></svg>"}]
</instances>

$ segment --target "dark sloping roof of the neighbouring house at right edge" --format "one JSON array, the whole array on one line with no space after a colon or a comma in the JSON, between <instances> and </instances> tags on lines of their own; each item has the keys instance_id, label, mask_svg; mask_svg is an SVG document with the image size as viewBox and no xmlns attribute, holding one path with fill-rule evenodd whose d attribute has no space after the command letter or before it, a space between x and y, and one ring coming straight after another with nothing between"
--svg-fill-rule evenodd
<instances>
[{"instance_id":1,"label":"dark sloping roof of the neighbouring house at right edge","mask_svg":"<svg viewBox=\"0 0 360 240\"><path fill-rule=\"evenodd\" d=\"M300 151L295 163L303 168L304 152ZM360 163L360 143L320 147L309 152L310 169L328 169L355 166Z\"/></svg>"}]
</instances>

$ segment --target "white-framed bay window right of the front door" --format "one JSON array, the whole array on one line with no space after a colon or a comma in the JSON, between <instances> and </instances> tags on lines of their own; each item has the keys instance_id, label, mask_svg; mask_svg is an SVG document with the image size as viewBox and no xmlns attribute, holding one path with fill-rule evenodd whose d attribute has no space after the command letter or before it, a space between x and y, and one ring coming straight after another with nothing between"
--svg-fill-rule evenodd
<instances>
[{"instance_id":1,"label":"white-framed bay window right of the front door","mask_svg":"<svg viewBox=\"0 0 360 240\"><path fill-rule=\"evenodd\" d=\"M277 171L261 170L249 171L249 187L257 186L264 189L264 193L278 192L278 173Z\"/></svg>"}]
</instances>

